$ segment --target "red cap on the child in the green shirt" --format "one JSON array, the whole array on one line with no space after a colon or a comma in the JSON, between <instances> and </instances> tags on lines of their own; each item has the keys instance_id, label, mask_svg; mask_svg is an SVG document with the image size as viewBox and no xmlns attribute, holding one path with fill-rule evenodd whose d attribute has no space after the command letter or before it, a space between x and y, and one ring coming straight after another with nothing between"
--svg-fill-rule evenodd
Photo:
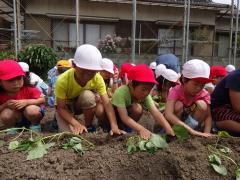
<instances>
[{"instance_id":1,"label":"red cap on the child in the green shirt","mask_svg":"<svg viewBox=\"0 0 240 180\"><path fill-rule=\"evenodd\" d=\"M138 82L149 82L158 84L153 71L146 64L139 64L131 68L128 72L128 79Z\"/></svg>"}]
</instances>

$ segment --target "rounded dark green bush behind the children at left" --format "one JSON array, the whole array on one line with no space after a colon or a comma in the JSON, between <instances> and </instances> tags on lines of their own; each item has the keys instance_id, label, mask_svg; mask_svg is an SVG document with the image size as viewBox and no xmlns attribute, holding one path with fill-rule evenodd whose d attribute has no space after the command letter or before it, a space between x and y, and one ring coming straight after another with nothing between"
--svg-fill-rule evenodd
<instances>
[{"instance_id":1,"label":"rounded dark green bush behind the children at left","mask_svg":"<svg viewBox=\"0 0 240 180\"><path fill-rule=\"evenodd\" d=\"M29 45L18 54L18 60L29 64L30 71L47 77L49 69L55 66L57 55L52 48L43 44Z\"/></svg>"}]
</instances>

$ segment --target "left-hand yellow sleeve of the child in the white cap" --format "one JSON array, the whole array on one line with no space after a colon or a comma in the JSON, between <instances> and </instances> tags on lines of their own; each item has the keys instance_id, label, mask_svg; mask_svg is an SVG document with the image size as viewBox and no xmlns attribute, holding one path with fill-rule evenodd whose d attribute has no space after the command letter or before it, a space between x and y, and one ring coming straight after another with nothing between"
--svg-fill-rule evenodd
<instances>
[{"instance_id":1,"label":"left-hand yellow sleeve of the child in the white cap","mask_svg":"<svg viewBox=\"0 0 240 180\"><path fill-rule=\"evenodd\" d=\"M66 99L68 89L67 86L68 81L65 80L64 76L59 76L54 89L55 96L60 99Z\"/></svg>"}]
</instances>

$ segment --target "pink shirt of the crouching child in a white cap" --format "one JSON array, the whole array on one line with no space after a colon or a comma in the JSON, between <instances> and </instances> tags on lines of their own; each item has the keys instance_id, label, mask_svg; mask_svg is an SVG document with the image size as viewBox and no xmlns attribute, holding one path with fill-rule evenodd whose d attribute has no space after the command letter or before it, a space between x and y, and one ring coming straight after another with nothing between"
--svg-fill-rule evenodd
<instances>
[{"instance_id":1,"label":"pink shirt of the crouching child in a white cap","mask_svg":"<svg viewBox=\"0 0 240 180\"><path fill-rule=\"evenodd\" d=\"M210 95L205 89L202 89L193 98L188 98L184 94L182 85L177 85L170 90L169 95L168 95L168 100L181 101L185 107L191 106L197 100L203 100L207 104L211 104Z\"/></svg>"}]
</instances>

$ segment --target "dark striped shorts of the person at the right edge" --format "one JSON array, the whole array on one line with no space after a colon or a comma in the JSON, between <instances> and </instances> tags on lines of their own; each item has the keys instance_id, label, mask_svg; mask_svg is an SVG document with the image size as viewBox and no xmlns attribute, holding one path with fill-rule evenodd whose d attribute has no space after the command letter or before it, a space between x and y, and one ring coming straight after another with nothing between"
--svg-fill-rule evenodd
<instances>
[{"instance_id":1,"label":"dark striped shorts of the person at the right edge","mask_svg":"<svg viewBox=\"0 0 240 180\"><path fill-rule=\"evenodd\" d=\"M230 105L224 105L212 110L213 121L232 120L240 122L240 113L234 111Z\"/></svg>"}]
</instances>

